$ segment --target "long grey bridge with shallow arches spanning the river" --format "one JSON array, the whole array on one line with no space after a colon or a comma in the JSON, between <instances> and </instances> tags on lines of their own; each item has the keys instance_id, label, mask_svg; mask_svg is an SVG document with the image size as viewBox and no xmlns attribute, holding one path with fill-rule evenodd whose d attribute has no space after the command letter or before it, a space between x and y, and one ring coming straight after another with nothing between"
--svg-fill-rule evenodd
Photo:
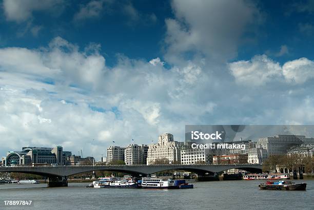
<instances>
[{"instance_id":1,"label":"long grey bridge with shallow arches spanning the river","mask_svg":"<svg viewBox=\"0 0 314 210\"><path fill-rule=\"evenodd\" d=\"M204 175L220 173L229 169L241 169L251 173L261 173L261 164L170 164L170 165L80 165L80 166L2 166L0 172L17 172L48 177L48 187L67 186L67 177L91 171L123 172L147 176L167 170L185 170Z\"/></svg>"}]
</instances>

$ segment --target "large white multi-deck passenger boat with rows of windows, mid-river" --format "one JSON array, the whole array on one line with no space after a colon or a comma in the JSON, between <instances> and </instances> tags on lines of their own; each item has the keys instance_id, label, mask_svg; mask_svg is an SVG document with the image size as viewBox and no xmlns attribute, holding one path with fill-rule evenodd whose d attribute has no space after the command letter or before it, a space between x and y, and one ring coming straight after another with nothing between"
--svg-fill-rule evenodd
<instances>
[{"instance_id":1,"label":"large white multi-deck passenger boat with rows of windows, mid-river","mask_svg":"<svg viewBox=\"0 0 314 210\"><path fill-rule=\"evenodd\" d=\"M174 181L171 179L145 177L142 179L142 188L173 189L178 187L174 185Z\"/></svg>"}]
</instances>

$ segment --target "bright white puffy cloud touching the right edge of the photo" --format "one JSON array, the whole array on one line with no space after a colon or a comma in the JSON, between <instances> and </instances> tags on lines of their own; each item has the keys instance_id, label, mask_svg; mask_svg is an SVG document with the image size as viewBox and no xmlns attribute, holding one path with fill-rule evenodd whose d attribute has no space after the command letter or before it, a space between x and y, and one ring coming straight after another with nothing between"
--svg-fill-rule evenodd
<instances>
[{"instance_id":1,"label":"bright white puffy cloud touching the right edge of the photo","mask_svg":"<svg viewBox=\"0 0 314 210\"><path fill-rule=\"evenodd\" d=\"M304 83L314 78L314 62L304 57L288 61L283 65L282 71L287 81Z\"/></svg>"}]
</instances>

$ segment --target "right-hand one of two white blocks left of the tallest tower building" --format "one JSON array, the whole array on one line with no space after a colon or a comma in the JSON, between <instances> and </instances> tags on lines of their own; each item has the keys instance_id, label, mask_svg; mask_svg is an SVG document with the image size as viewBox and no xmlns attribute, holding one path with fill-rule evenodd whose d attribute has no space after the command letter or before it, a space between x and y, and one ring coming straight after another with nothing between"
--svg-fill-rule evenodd
<instances>
[{"instance_id":1,"label":"right-hand one of two white blocks left of the tallest tower building","mask_svg":"<svg viewBox=\"0 0 314 210\"><path fill-rule=\"evenodd\" d=\"M127 165L141 165L147 163L148 146L145 144L129 144L124 153Z\"/></svg>"}]
</instances>

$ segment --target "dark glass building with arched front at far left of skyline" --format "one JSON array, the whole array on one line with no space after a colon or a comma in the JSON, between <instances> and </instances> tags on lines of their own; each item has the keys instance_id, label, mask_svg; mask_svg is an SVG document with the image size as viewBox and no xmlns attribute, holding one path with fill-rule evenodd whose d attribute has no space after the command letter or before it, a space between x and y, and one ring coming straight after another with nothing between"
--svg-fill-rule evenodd
<instances>
[{"instance_id":1,"label":"dark glass building with arched front at far left of skyline","mask_svg":"<svg viewBox=\"0 0 314 210\"><path fill-rule=\"evenodd\" d=\"M55 148L43 148L43 147L24 147L22 151L7 152L7 156L2 158L2 162L5 166L10 166L14 161L17 165L31 165L31 164L58 164L67 165L70 164L67 157L71 156L69 151L63 151L62 146L56 146Z\"/></svg>"}]
</instances>

